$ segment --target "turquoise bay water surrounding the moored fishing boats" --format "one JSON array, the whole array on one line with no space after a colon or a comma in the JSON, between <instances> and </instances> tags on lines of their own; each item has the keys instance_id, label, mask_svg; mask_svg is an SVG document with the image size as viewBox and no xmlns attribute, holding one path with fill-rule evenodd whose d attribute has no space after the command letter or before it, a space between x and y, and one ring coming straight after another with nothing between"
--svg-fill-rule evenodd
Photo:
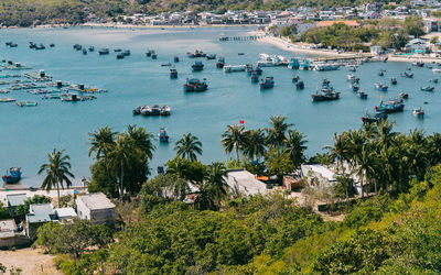
<instances>
[{"instance_id":1,"label":"turquoise bay water surrounding the moored fishing boats","mask_svg":"<svg viewBox=\"0 0 441 275\"><path fill-rule=\"evenodd\" d=\"M219 42L218 36L226 34L245 35L249 28L227 29L179 29L179 30L114 30L114 29L22 29L0 30L0 59L12 59L32 66L34 70L45 69L54 80L67 80L86 86L108 89L108 94L98 95L97 100L85 102L62 102L41 100L25 91L11 91L1 97L18 100L36 100L36 108L19 108L14 103L0 103L0 169L21 166L24 175L22 185L39 185L36 176L40 165L46 162L47 153L54 147L66 150L72 157L76 183L83 176L89 176L88 132L98 127L110 125L116 131L123 131L128 124L144 127L157 135L161 125L166 127L170 144L157 144L157 152L151 167L163 164L175 154L174 142L184 133L193 133L203 142L204 154L201 161L209 163L224 161L228 156L220 145L220 134L227 124L245 121L246 128L265 128L273 114L282 114L308 135L308 154L323 152L322 146L331 143L334 132L358 129L361 117L366 109L372 110L378 103L379 96L385 99L406 91L405 112L391 114L397 122L397 130L409 131L421 128L428 133L441 131L441 84L434 92L420 91L419 87L429 85L429 79L440 77L428 68L412 67L415 79L399 77L399 73L410 67L407 63L369 63L355 73L361 78L361 87L368 92L367 100L359 99L348 88L345 68L336 72L294 72L286 67L263 68L263 75L273 76L273 89L260 90L251 84L246 73L224 74L216 69L215 61L203 61L204 70L192 73L194 59L185 56L195 48L206 53L222 54L226 64L238 65L256 63L260 53L292 56L275 46L252 41ZM13 41L17 48L4 46ZM28 47L28 42L44 43L45 51ZM49 48L55 43L54 48ZM131 56L116 59L115 54L99 56L97 51L83 55L72 46L78 43L109 48L129 48ZM146 57L148 48L155 50L158 59ZM237 53L245 53L238 56ZM178 79L169 78L169 67L160 64L173 62ZM385 77L377 76L380 68L387 69ZM8 74L1 72L0 74ZM305 81L304 90L295 90L291 77L299 75ZM388 92L374 88L377 81L387 82L397 77L398 85ZM182 85L186 77L206 78L209 88L206 92L184 94ZM322 77L331 80L334 88L342 92L341 99L331 102L313 103L311 94ZM389 85L390 86L390 85ZM3 88L3 87L0 87ZM429 105L423 105L428 101ZM133 117L131 111L140 105L169 105L172 116ZM415 107L422 106L427 116L423 120L412 117Z\"/></svg>"}]
</instances>

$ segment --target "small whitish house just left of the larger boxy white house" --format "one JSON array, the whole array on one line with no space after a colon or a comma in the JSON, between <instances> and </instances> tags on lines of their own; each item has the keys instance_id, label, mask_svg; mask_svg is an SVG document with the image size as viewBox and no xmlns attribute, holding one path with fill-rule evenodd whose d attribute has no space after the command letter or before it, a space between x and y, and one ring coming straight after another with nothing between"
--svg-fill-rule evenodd
<instances>
[{"instance_id":1,"label":"small whitish house just left of the larger boxy white house","mask_svg":"<svg viewBox=\"0 0 441 275\"><path fill-rule=\"evenodd\" d=\"M26 235L30 239L36 237L36 231L41 226L56 219L51 204L30 205L26 215Z\"/></svg>"}]
</instances>

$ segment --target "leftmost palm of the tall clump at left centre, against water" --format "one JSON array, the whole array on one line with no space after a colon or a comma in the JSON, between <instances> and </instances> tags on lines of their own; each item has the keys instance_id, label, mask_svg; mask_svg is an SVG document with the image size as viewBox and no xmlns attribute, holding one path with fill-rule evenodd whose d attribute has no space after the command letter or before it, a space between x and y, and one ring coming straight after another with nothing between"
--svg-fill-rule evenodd
<instances>
[{"instance_id":1,"label":"leftmost palm of the tall clump at left centre, against water","mask_svg":"<svg viewBox=\"0 0 441 275\"><path fill-rule=\"evenodd\" d=\"M99 161L104 158L106 165L107 183L110 182L108 153L115 146L116 135L117 133L114 132L109 127L98 128L93 133L89 133L89 144L92 145L89 148L89 157L93 153L96 153L96 160Z\"/></svg>"}]
</instances>

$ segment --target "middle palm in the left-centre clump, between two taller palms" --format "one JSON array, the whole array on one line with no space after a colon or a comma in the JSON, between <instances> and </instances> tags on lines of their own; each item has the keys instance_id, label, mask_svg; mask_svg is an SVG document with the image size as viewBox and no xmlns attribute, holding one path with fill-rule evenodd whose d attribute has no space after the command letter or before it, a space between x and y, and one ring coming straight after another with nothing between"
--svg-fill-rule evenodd
<instances>
[{"instance_id":1,"label":"middle palm in the left-centre clump, between two taller palms","mask_svg":"<svg viewBox=\"0 0 441 275\"><path fill-rule=\"evenodd\" d=\"M110 164L116 170L119 169L119 195L123 195L125 169L130 168L140 157L140 150L135 146L135 142L127 134L120 134L115 142L111 152L108 153Z\"/></svg>"}]
</instances>

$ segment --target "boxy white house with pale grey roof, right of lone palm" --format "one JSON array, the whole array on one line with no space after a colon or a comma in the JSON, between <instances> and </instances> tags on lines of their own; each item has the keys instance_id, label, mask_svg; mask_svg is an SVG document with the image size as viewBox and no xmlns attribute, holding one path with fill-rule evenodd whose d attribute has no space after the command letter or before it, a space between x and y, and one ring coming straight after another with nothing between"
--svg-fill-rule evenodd
<instances>
[{"instance_id":1,"label":"boxy white house with pale grey roof, right of lone palm","mask_svg":"<svg viewBox=\"0 0 441 275\"><path fill-rule=\"evenodd\" d=\"M78 218L93 224L112 223L117 218L116 206L103 193L79 195L75 202Z\"/></svg>"}]
</instances>

